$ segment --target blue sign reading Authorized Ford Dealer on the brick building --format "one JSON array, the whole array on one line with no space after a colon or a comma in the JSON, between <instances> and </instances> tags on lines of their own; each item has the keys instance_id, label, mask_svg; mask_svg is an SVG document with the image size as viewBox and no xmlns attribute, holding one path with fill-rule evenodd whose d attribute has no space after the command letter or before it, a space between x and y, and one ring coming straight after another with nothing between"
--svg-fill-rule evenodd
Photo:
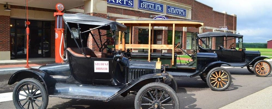
<instances>
[{"instance_id":1,"label":"blue sign reading Authorized Ford Dealer on the brick building","mask_svg":"<svg viewBox=\"0 0 272 109\"><path fill-rule=\"evenodd\" d=\"M139 0L138 8L144 9L144 10L149 10L149 11L154 11L154 12L164 13L164 4L150 2L150 1L146 1L146 0Z\"/></svg>"}]
</instances>

